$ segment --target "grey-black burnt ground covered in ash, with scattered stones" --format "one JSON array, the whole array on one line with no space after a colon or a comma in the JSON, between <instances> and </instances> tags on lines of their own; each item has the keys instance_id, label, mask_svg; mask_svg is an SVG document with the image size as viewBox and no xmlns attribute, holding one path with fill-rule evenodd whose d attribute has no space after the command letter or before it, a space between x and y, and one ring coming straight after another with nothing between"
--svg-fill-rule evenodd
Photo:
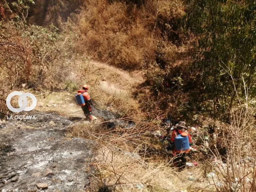
<instances>
[{"instance_id":1,"label":"grey-black burnt ground covered in ash, with scattered stones","mask_svg":"<svg viewBox=\"0 0 256 192\"><path fill-rule=\"evenodd\" d=\"M9 176L0 177L0 191L40 191L37 183L47 183L46 192L84 191L94 142L65 137L72 124L66 117L29 115L36 119L7 120L0 129L0 176Z\"/></svg>"}]
</instances>

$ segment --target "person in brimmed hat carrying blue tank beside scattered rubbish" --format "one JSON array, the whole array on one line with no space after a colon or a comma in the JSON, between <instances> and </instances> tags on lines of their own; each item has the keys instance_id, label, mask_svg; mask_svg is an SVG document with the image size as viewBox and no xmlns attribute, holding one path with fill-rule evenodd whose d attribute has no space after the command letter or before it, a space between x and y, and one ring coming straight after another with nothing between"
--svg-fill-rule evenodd
<instances>
[{"instance_id":1,"label":"person in brimmed hat carrying blue tank beside scattered rubbish","mask_svg":"<svg viewBox=\"0 0 256 192\"><path fill-rule=\"evenodd\" d=\"M186 153L190 151L191 137L187 132L186 123L180 121L176 124L176 128L172 132L170 141L174 144L173 156L175 157L174 163L180 168L184 169L186 167L187 159Z\"/></svg>"}]
</instances>

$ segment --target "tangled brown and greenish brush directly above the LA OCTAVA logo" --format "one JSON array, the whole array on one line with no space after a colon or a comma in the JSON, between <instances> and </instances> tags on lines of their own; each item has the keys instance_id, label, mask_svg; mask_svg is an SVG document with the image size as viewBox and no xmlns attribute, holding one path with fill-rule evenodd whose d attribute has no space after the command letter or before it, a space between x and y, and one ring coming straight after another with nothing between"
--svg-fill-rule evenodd
<instances>
[{"instance_id":1,"label":"tangled brown and greenish brush directly above the LA OCTAVA logo","mask_svg":"<svg viewBox=\"0 0 256 192\"><path fill-rule=\"evenodd\" d=\"M73 38L22 21L0 25L0 113L5 114L5 99L14 90L64 87L72 69Z\"/></svg>"}]
</instances>

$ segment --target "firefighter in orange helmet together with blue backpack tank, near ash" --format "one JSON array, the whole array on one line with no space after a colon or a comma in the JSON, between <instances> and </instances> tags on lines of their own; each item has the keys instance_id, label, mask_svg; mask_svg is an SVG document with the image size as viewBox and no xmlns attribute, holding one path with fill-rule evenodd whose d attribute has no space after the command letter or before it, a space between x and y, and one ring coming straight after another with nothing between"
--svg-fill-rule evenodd
<instances>
[{"instance_id":1,"label":"firefighter in orange helmet together with blue backpack tank, near ash","mask_svg":"<svg viewBox=\"0 0 256 192\"><path fill-rule=\"evenodd\" d=\"M91 109L91 106L93 104L92 104L90 95L87 92L88 89L89 89L88 85L83 85L82 90L77 91L75 98L76 98L77 105L82 107L85 117L89 120L93 120L92 109Z\"/></svg>"}]
</instances>

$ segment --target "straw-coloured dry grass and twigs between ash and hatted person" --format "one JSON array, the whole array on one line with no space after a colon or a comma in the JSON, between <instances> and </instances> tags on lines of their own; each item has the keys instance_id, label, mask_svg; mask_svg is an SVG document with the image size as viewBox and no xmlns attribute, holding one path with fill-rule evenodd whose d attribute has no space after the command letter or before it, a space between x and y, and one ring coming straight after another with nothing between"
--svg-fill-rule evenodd
<instances>
[{"instance_id":1,"label":"straw-coloured dry grass and twigs between ash and hatted person","mask_svg":"<svg viewBox=\"0 0 256 192\"><path fill-rule=\"evenodd\" d=\"M78 124L70 127L72 134L97 142L91 162L97 169L92 172L97 185L116 186L117 191L137 191L137 184L143 184L142 191L169 191L175 189L174 169L169 158L158 162L141 152L143 146L150 147L148 133L157 129L152 123L124 129L116 126L106 129L104 125ZM146 151L146 150L145 150Z\"/></svg>"}]
</instances>

